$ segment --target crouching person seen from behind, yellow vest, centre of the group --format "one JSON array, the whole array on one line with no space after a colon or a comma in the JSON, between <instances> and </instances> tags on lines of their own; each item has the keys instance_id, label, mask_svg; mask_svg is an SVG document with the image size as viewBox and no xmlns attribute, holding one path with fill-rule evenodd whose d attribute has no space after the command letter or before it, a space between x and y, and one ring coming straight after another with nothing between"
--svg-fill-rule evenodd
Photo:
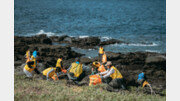
<instances>
[{"instance_id":1,"label":"crouching person seen from behind, yellow vest, centre of the group","mask_svg":"<svg viewBox=\"0 0 180 101\"><path fill-rule=\"evenodd\" d=\"M75 62L73 62L71 66L67 69L68 71L67 76L69 80L81 81L85 77L83 68L84 67L83 64L80 62L80 59L76 58Z\"/></svg>"}]
</instances>

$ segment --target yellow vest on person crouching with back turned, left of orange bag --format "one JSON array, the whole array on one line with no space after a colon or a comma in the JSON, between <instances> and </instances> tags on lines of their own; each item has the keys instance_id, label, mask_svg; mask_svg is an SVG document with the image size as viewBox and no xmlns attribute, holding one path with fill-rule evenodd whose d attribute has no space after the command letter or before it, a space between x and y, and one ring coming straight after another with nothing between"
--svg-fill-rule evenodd
<instances>
[{"instance_id":1,"label":"yellow vest on person crouching with back turned, left of orange bag","mask_svg":"<svg viewBox=\"0 0 180 101\"><path fill-rule=\"evenodd\" d=\"M82 64L72 63L70 72L74 73L75 77L79 77L79 75L83 72Z\"/></svg>"}]
</instances>

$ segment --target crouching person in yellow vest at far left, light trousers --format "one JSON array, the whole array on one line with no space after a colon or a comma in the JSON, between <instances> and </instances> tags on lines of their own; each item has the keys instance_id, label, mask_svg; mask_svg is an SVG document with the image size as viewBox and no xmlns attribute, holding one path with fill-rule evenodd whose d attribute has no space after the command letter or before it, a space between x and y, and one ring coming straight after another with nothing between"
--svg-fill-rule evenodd
<instances>
[{"instance_id":1,"label":"crouching person in yellow vest at far left, light trousers","mask_svg":"<svg viewBox=\"0 0 180 101\"><path fill-rule=\"evenodd\" d=\"M26 74L27 77L32 77L32 71L35 71L37 74L40 74L38 69L36 68L36 62L39 61L38 59L36 61L29 60L26 65L24 66L24 73Z\"/></svg>"}]
</instances>

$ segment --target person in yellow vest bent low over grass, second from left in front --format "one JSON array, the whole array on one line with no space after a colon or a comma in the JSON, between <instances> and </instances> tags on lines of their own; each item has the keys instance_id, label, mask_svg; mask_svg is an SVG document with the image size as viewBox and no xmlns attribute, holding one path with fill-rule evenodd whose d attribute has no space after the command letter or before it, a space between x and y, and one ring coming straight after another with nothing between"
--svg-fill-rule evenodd
<instances>
[{"instance_id":1,"label":"person in yellow vest bent low over grass, second from left in front","mask_svg":"<svg viewBox=\"0 0 180 101\"><path fill-rule=\"evenodd\" d=\"M46 78L46 80L52 80L53 76L56 76L56 79L58 80L58 76L57 76L57 68L55 67L49 67L46 68L45 70L43 70L42 74L43 74L43 79Z\"/></svg>"}]
</instances>

